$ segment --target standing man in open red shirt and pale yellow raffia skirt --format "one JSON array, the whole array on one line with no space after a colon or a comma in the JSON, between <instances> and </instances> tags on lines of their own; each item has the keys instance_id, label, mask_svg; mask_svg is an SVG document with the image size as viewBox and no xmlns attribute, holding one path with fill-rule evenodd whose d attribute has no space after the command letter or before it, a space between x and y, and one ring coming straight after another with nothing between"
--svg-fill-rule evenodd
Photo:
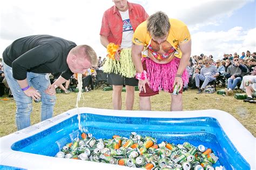
<instances>
[{"instance_id":1,"label":"standing man in open red shirt and pale yellow raffia skirt","mask_svg":"<svg viewBox=\"0 0 256 170\"><path fill-rule=\"evenodd\" d=\"M103 67L104 72L109 73L107 82L113 86L113 109L121 110L121 93L123 85L125 85L126 110L132 110L134 87L138 86L138 80L134 78L136 70L131 58L132 37L137 26L144 22L149 15L139 4L129 3L127 0L113 0L113 2L114 5L103 15L100 42L104 47L113 42L119 45L121 51L119 51L120 53L116 52L116 60L107 58Z\"/></svg>"}]
</instances>

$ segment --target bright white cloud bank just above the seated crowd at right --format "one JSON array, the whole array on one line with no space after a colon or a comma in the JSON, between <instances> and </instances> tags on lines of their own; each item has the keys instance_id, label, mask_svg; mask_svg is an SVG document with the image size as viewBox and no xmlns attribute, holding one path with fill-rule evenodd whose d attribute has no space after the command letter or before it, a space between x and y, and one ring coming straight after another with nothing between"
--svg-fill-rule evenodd
<instances>
[{"instance_id":1,"label":"bright white cloud bank just above the seated crowd at right","mask_svg":"<svg viewBox=\"0 0 256 170\"><path fill-rule=\"evenodd\" d=\"M242 27L234 27L228 31L198 32L192 35L192 55L212 54L220 59L224 53L241 55L247 50L256 52L256 28L245 31Z\"/></svg>"}]
</instances>

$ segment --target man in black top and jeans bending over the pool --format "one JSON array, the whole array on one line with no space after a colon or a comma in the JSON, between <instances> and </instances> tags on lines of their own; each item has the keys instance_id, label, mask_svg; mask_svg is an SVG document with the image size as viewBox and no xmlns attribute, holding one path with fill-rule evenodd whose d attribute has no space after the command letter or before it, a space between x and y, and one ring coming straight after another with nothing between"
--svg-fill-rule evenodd
<instances>
[{"instance_id":1,"label":"man in black top and jeans bending over the pool","mask_svg":"<svg viewBox=\"0 0 256 170\"><path fill-rule=\"evenodd\" d=\"M97 55L90 46L49 35L15 40L3 52L6 80L14 95L17 129L30 126L32 98L41 98L41 121L52 117L55 89L73 75L97 65ZM62 72L50 83L49 74Z\"/></svg>"}]
</instances>

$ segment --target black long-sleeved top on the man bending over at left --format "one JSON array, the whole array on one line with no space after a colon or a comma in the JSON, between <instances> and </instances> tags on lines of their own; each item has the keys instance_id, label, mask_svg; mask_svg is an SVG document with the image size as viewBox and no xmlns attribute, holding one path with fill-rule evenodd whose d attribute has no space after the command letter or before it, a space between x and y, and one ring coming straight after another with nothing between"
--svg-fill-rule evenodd
<instances>
[{"instance_id":1,"label":"black long-sleeved top on the man bending over at left","mask_svg":"<svg viewBox=\"0 0 256 170\"><path fill-rule=\"evenodd\" d=\"M69 80L73 75L66 63L75 42L49 35L29 36L15 40L3 52L6 65L12 67L16 80L26 79L27 72L57 73Z\"/></svg>"}]
</instances>

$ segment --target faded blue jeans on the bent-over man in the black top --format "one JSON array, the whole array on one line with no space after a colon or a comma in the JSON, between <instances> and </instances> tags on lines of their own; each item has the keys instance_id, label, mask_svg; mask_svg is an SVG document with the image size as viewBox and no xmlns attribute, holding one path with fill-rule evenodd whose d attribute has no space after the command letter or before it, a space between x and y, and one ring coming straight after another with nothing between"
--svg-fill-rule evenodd
<instances>
[{"instance_id":1,"label":"faded blue jeans on the bent-over man in the black top","mask_svg":"<svg viewBox=\"0 0 256 170\"><path fill-rule=\"evenodd\" d=\"M7 80L9 87L14 95L16 101L16 125L17 129L21 130L30 126L30 114L32 112L32 97L28 97L22 91L21 87L16 79L12 76L12 68L3 62L4 76ZM48 74L38 74L28 72L26 79L29 82L29 86L35 88L41 93L41 121L51 118L53 114L53 107L56 103L56 96L50 96L44 93L50 83Z\"/></svg>"}]
</instances>

